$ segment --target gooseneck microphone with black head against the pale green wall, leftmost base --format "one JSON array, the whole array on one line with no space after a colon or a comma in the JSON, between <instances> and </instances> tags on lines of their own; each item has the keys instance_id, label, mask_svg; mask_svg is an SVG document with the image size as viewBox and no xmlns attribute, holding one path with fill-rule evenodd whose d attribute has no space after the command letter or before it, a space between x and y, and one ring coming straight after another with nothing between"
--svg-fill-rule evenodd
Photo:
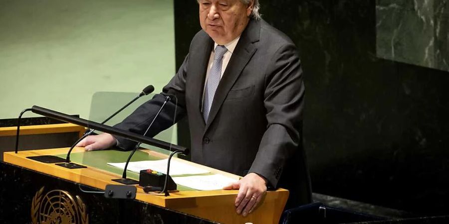
<instances>
[{"instance_id":1,"label":"gooseneck microphone with black head against the pale green wall, leftmost base","mask_svg":"<svg viewBox=\"0 0 449 224\"><path fill-rule=\"evenodd\" d=\"M125 108L127 108L128 106L130 106L132 103L134 103L135 101L137 101L139 98L146 96L148 94L153 93L154 91L154 87L153 85L149 85L147 87L145 87L142 92L136 96L133 100L131 100L128 104L126 104L125 106L123 106L122 108L120 108L117 112L113 113L112 115L110 115L108 118L106 118L105 120L103 120L103 122L101 122L101 124L104 124L106 122L108 122L112 117L114 117L115 115L117 115L119 112L122 112ZM80 166L78 164L75 163L70 163L70 153L72 152L73 148L80 142L82 141L84 138L86 138L87 136L89 136L92 132L94 132L95 129L91 129L88 132L86 132L83 136L81 136L75 143L73 143L73 145L70 147L69 151L67 152L67 157L65 158L65 162L64 163L57 163L56 165L58 166L62 166L62 167L66 167L69 169L76 169L76 168L83 168L84 166Z\"/></svg>"}]
</instances>

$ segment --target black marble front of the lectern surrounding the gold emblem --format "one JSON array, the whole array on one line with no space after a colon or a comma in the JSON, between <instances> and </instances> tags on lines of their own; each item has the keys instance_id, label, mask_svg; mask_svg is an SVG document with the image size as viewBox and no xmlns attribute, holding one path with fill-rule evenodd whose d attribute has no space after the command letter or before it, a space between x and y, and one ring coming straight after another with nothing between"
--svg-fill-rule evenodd
<instances>
[{"instance_id":1,"label":"black marble front of the lectern surrounding the gold emblem","mask_svg":"<svg viewBox=\"0 0 449 224\"><path fill-rule=\"evenodd\" d=\"M212 223L137 200L106 199L103 194L85 193L77 183L4 162L0 162L0 223L31 223L31 209L37 208L35 202L38 201L33 201L33 197L42 187L44 189L41 195L52 190L62 190L73 198L79 196L85 204L90 224ZM87 186L82 186L82 189L99 191ZM45 197L41 201L45 201Z\"/></svg>"}]
</instances>

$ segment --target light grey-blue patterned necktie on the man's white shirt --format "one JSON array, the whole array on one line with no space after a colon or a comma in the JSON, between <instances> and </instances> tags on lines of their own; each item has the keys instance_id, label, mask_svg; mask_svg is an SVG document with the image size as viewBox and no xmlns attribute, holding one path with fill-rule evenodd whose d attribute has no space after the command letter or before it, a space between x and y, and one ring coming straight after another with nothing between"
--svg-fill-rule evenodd
<instances>
[{"instance_id":1,"label":"light grey-blue patterned necktie on the man's white shirt","mask_svg":"<svg viewBox=\"0 0 449 224\"><path fill-rule=\"evenodd\" d=\"M203 117L206 122L208 121L209 112L211 111L215 91L217 90L218 84L220 83L220 79L222 77L223 55L225 55L226 51L226 47L222 45L217 45L215 49L214 63L209 73L204 92Z\"/></svg>"}]
</instances>

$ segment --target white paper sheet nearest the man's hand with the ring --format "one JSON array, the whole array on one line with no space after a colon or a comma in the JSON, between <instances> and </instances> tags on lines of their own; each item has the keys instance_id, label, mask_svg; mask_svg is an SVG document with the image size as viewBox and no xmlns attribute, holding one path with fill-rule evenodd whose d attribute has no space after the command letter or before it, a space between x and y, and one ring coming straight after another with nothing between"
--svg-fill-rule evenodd
<instances>
[{"instance_id":1,"label":"white paper sheet nearest the man's hand with the ring","mask_svg":"<svg viewBox=\"0 0 449 224\"><path fill-rule=\"evenodd\" d=\"M221 190L230 183L238 181L220 174L172 178L176 184L201 191Z\"/></svg>"}]
</instances>

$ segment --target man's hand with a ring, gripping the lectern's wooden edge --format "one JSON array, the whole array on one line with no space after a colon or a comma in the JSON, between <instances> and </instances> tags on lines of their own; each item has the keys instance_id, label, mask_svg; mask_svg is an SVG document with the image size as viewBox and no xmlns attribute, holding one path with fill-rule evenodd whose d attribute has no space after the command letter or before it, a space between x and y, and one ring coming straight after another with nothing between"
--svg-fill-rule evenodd
<instances>
[{"instance_id":1,"label":"man's hand with a ring, gripping the lectern's wooden edge","mask_svg":"<svg viewBox=\"0 0 449 224\"><path fill-rule=\"evenodd\" d=\"M239 189L237 198L235 199L236 212L246 217L249 213L252 213L257 204L262 200L266 192L266 181L258 174L248 173L239 181L229 184L223 189Z\"/></svg>"}]
</instances>

